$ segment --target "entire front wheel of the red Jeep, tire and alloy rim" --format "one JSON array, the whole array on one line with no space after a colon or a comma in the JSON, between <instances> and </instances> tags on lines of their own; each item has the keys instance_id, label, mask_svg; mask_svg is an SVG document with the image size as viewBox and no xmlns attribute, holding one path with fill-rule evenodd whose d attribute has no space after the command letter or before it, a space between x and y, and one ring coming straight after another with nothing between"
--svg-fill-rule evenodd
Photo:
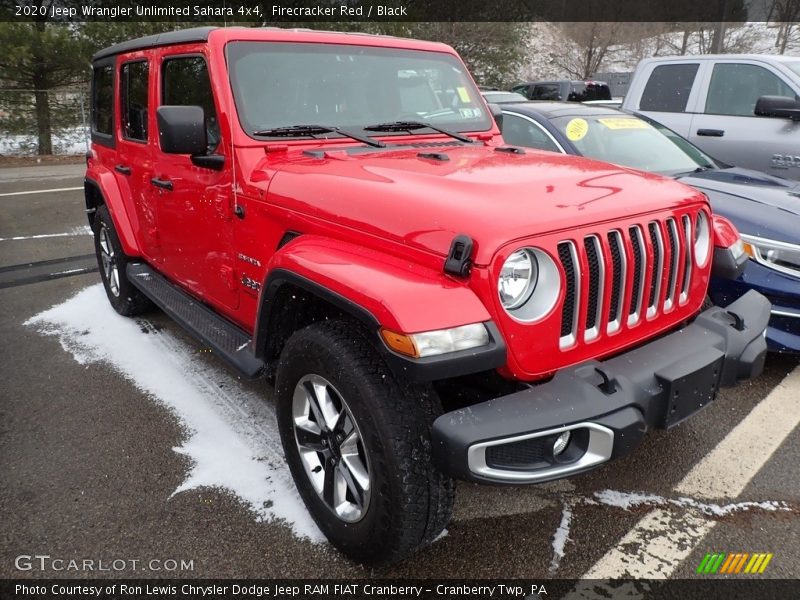
<instances>
[{"instance_id":1,"label":"entire front wheel of the red Jeep, tire and alloy rim","mask_svg":"<svg viewBox=\"0 0 800 600\"><path fill-rule=\"evenodd\" d=\"M330 542L367 563L399 560L432 541L454 486L433 465L428 388L393 374L357 326L310 325L281 354L278 425L298 491Z\"/></svg>"}]
</instances>

